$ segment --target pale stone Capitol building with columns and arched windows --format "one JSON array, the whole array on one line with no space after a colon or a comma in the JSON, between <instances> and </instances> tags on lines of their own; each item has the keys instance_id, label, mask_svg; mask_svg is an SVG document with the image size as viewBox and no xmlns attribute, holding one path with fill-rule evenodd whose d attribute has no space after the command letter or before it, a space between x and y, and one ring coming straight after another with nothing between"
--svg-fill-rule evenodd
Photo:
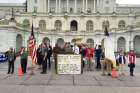
<instances>
[{"instance_id":1,"label":"pale stone Capitol building with columns and arched windows","mask_svg":"<svg viewBox=\"0 0 140 93\"><path fill-rule=\"evenodd\" d=\"M140 53L140 5L116 0L27 0L0 3L0 52L27 46L32 24L37 45L42 40L60 45L79 39L103 44L108 27L115 51Z\"/></svg>"}]
</instances>

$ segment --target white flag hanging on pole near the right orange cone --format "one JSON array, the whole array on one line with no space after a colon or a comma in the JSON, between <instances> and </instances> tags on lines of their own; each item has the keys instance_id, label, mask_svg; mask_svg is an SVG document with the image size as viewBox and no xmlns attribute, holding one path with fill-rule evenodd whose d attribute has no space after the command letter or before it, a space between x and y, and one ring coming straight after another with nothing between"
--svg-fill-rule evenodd
<instances>
[{"instance_id":1,"label":"white flag hanging on pole near the right orange cone","mask_svg":"<svg viewBox=\"0 0 140 93\"><path fill-rule=\"evenodd\" d=\"M116 68L114 48L112 46L112 41L109 36L107 27L105 28L104 34L105 34L105 39L104 39L105 58L111 60L113 64L113 68Z\"/></svg>"}]
</instances>

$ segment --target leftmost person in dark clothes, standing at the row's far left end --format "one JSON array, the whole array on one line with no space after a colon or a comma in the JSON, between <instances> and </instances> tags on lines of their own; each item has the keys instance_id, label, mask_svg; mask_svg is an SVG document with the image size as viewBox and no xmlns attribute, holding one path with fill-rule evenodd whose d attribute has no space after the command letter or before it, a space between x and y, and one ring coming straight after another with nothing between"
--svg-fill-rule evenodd
<instances>
[{"instance_id":1,"label":"leftmost person in dark clothes, standing at the row's far left end","mask_svg":"<svg viewBox=\"0 0 140 93\"><path fill-rule=\"evenodd\" d=\"M16 60L16 55L14 52L14 49L11 47L8 51L8 73L7 74L13 74L14 73L14 62Z\"/></svg>"}]
</instances>

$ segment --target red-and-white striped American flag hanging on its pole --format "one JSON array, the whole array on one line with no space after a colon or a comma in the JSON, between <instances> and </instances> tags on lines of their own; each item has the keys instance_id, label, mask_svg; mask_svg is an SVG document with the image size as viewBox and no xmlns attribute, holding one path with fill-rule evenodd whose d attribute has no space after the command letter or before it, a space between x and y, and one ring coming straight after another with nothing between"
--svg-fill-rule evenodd
<instances>
[{"instance_id":1,"label":"red-and-white striped American flag hanging on its pole","mask_svg":"<svg viewBox=\"0 0 140 93\"><path fill-rule=\"evenodd\" d=\"M36 64L37 63L37 54L36 54L36 40L34 37L34 27L32 24L32 30L31 30L31 35L29 37L28 41L28 47L29 47L29 53L32 59L32 63Z\"/></svg>"}]
</instances>

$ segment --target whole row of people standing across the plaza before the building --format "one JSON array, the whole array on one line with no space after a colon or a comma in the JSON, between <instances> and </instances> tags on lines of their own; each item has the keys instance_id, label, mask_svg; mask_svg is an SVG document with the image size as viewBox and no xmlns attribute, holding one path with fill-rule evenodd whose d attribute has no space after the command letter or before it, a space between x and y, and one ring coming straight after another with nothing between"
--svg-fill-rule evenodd
<instances>
[{"instance_id":1,"label":"whole row of people standing across the plaza before the building","mask_svg":"<svg viewBox=\"0 0 140 93\"><path fill-rule=\"evenodd\" d=\"M42 42L37 48L37 64L39 68L42 68L41 74L47 73L48 69L51 69L51 57L54 58L55 62L55 71L57 73L57 54L81 54L82 56L82 67L87 68L87 71L92 71L94 66L97 70L107 70L108 75L111 75L112 63L110 60L105 58L104 50L101 45L96 45L95 47L92 44L74 44L65 43L63 47L60 47L56 44L53 48L48 43ZM28 61L28 52L25 51L25 47L22 47L18 53L15 53L13 48L7 52L8 55L8 74L14 73L14 62L17 56L20 56L22 72L26 73L27 61ZM134 68L136 64L136 54L134 51L130 51L126 56L121 50L116 56L117 67L119 67L119 75L125 75L124 65L128 62L128 67L130 68L130 76L134 76Z\"/></svg>"}]
</instances>

